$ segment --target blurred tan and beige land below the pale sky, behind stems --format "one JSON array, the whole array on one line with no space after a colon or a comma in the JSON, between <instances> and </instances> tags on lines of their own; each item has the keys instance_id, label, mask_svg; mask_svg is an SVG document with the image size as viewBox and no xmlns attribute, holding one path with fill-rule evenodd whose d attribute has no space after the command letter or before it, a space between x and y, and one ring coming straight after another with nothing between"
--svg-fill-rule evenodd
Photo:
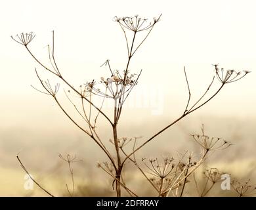
<instances>
[{"instance_id":1,"label":"blurred tan and beige land below the pale sky, behind stems","mask_svg":"<svg viewBox=\"0 0 256 210\"><path fill-rule=\"evenodd\" d=\"M231 177L246 180L256 184L256 157L254 148L256 146L256 133L254 119L221 119L220 117L188 118L173 127L152 144L142 149L137 157L156 157L166 154L175 156L175 152L186 149L199 152L198 147L190 138L192 133L200 133L201 123L205 124L208 135L224 137L234 145L224 152L215 152L205 162L207 167L217 167ZM164 124L164 123L163 123ZM146 137L148 131L154 129L154 125L145 126L146 129L128 127L123 133L141 133ZM102 131L107 132L107 131ZM24 171L16 160L16 154L20 152L22 162L35 179L42 186L56 196L68 196L66 184L71 187L71 179L68 165L64 163L58 154L75 154L83 159L73 164L75 187L77 196L114 196L112 190L112 179L96 167L96 161L104 161L100 150L77 132L74 127L69 129L55 130L51 132L30 131L28 128L2 129L0 132L0 196L47 196L37 186L34 190L24 190ZM111 144L108 144L110 146ZM202 171L198 171L198 179ZM140 196L154 196L153 188L140 176L135 167L125 172L127 183L139 192ZM139 183L139 184L138 184ZM184 196L196 196L194 184L188 184ZM137 189L137 190L136 190ZM234 196L231 192L223 192L216 185L211 196Z\"/></svg>"}]
</instances>

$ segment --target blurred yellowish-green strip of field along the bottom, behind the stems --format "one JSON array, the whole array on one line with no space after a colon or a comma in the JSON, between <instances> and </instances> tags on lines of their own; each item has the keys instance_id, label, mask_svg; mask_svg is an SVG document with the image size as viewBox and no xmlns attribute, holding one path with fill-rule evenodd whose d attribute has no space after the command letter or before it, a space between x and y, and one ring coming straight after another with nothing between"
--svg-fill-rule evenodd
<instances>
[{"instance_id":1,"label":"blurred yellowish-green strip of field along the bottom, behind the stems","mask_svg":"<svg viewBox=\"0 0 256 210\"><path fill-rule=\"evenodd\" d=\"M221 171L231 173L231 177L236 177L240 180L247 180L251 177L251 183L256 183L256 161L255 159L243 159L241 161L234 161L232 163L212 163L207 166L217 167ZM83 173L84 169L75 167L75 173ZM201 168L202 169L202 168ZM196 176L198 182L202 182L202 170L198 170ZM45 192L34 185L33 190L24 189L24 175L25 173L17 169L1 168L1 196L47 196ZM139 171L127 174L127 181L131 188L138 192L139 196L156 196L156 192L146 179L141 177ZM71 179L68 177L67 171L61 170L62 174L56 173L56 171L49 172L48 174L33 173L35 179L49 190L54 196L69 196L66 190L66 183L71 187ZM115 196L112 190L112 180L109 177L103 175L95 175L95 173L102 173L100 169L95 169L91 174L87 174L85 177L75 176L75 195L76 196ZM198 196L193 179L190 178L186 187L184 196ZM138 184L140 183L140 184ZM123 192L124 195L127 195ZM217 183L215 188L211 191L209 196L236 196L232 190L221 190L221 183Z\"/></svg>"}]
</instances>

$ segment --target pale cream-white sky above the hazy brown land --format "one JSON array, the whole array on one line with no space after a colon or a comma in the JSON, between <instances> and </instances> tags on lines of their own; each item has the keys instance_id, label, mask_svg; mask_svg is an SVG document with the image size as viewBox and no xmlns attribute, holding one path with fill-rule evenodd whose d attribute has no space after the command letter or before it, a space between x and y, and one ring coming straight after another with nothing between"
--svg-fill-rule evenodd
<instances>
[{"instance_id":1,"label":"pale cream-white sky above the hazy brown land","mask_svg":"<svg viewBox=\"0 0 256 210\"><path fill-rule=\"evenodd\" d=\"M125 39L113 18L134 14L146 18L162 14L161 21L131 62L131 69L134 72L143 69L138 90L163 89L163 114L175 108L178 108L175 112L182 112L179 107L186 104L183 66L187 69L192 95L199 96L214 75L211 64L219 63L223 68L252 73L238 83L227 85L198 114L254 117L255 8L255 1L234 0L1 1L0 108L5 125L12 125L13 121L22 123L28 110L32 118L56 112L51 110L51 98L30 87L31 84L39 87L33 72L39 66L22 45L12 41L11 35L35 32L29 47L45 59L45 46L51 43L54 30L56 59L62 73L79 86L106 76L106 70L100 68L106 59L110 59L114 68L124 68Z\"/></svg>"}]
</instances>

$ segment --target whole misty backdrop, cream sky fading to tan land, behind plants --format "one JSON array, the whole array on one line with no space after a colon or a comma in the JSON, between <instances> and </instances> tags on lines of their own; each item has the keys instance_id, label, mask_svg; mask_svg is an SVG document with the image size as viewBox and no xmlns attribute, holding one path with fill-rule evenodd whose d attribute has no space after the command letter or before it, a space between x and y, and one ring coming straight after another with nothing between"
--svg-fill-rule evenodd
<instances>
[{"instance_id":1,"label":"whole misty backdrop, cream sky fading to tan land, behind plants","mask_svg":"<svg viewBox=\"0 0 256 210\"><path fill-rule=\"evenodd\" d=\"M24 190L25 173L16 160L17 154L29 171L56 194L61 195L66 182L70 183L68 167L58 158L60 153L83 159L74 164L77 182L96 183L95 177L103 174L100 184L106 188L110 184L107 175L96 168L96 161L105 160L104 154L64 116L53 98L30 86L40 88L34 68L43 79L57 80L43 71L11 35L35 32L29 47L47 62L46 46L51 44L54 30L58 66L62 75L79 87L86 81L107 77L107 69L100 68L107 59L112 68L125 68L125 39L113 20L114 16L134 14L149 19L162 16L131 62L131 70L139 73L142 69L142 75L121 116L119 137L146 140L184 112L188 91L183 66L194 102L207 89L215 73L212 64L219 63L224 69L250 70L244 79L226 85L209 104L162 133L137 156L175 156L177 151L187 149L198 152L190 134L200 133L204 123L207 135L234 143L225 152L214 154L207 164L253 179L255 4L246 0L129 1L124 5L119 1L1 1L0 196L31 193ZM215 81L212 91L219 85ZM63 88L66 87L60 87L60 97L69 106ZM109 106L106 112L112 113ZM111 146L110 127L102 117L99 120L100 135ZM45 194L36 189L33 195Z\"/></svg>"}]
</instances>

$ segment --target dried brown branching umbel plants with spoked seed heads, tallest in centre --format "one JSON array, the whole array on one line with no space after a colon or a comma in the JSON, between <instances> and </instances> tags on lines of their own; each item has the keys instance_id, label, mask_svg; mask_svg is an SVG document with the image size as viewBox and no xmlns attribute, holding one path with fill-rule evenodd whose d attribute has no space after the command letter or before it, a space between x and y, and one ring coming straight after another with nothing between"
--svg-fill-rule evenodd
<instances>
[{"instance_id":1,"label":"dried brown branching umbel plants with spoked seed heads, tallest in centre","mask_svg":"<svg viewBox=\"0 0 256 210\"><path fill-rule=\"evenodd\" d=\"M14 41L25 47L26 51L30 53L33 59L41 67L43 67L44 70L51 72L51 74L58 77L62 83L68 85L69 90L65 91L65 94L68 97L68 100L70 100L74 106L75 111L85 122L83 125L80 125L75 120L75 118L69 114L69 111L66 110L64 106L62 106L60 100L58 99L60 84L58 83L56 85L52 85L48 79L47 81L43 81L39 75L39 72L37 69L35 69L35 74L39 79L39 83L41 83L41 86L43 87L43 90L37 90L41 93L52 96L53 100L64 112L64 114L72 121L72 123L81 129L85 135L88 135L93 141L95 141L102 152L106 154L108 161L104 163L98 163L98 167L102 168L114 180L113 183L115 184L114 189L116 191L116 196L121 196L121 188L123 188L123 190L125 190L129 195L137 196L137 194L133 192L133 190L131 190L123 181L123 168L127 163L135 164L142 175L144 175L152 187L157 191L158 196L168 196L170 192L174 196L182 196L185 184L188 181L187 178L192 175L196 169L198 169L205 158L207 158L207 154L209 154L211 151L223 150L224 148L227 148L230 146L228 142L222 140L221 138L207 137L207 135L204 134L204 130L202 129L202 135L192 135L192 138L196 140L196 142L203 150L201 158L197 160L194 160L195 158L192 153L185 152L181 155L180 158L178 158L177 161L172 157L163 158L161 161L160 159L142 159L142 165L144 165L142 167L139 165L140 163L137 161L135 154L142 147L146 146L146 144L154 139L157 139L158 135L163 133L163 131L169 129L169 127L175 125L175 123L188 116L192 112L202 108L202 106L213 99L225 85L238 81L249 73L248 71L236 72L234 70L224 70L223 68L220 70L218 64L213 65L215 67L215 76L213 76L213 79L211 79L211 82L209 83L209 86L206 88L203 95L195 100L196 102L192 103L190 100L192 94L190 92L190 85L188 83L186 69L183 68L184 79L188 88L188 100L186 102L186 106L184 107L184 112L181 113L181 116L173 121L170 121L170 123L163 127L163 129L160 131L156 131L152 137L143 141L140 140L141 143L139 145L137 145L137 138L119 137L118 123L121 114L123 113L123 105L125 104L125 101L127 100L127 97L131 91L133 91L135 85L138 84L140 74L142 73L141 71L133 73L129 70L131 60L133 56L135 56L135 53L137 53L137 51L140 49L140 46L144 44L144 41L147 39L148 35L150 35L153 28L155 28L156 24L160 22L160 18L161 15L158 16L158 18L153 18L152 21L148 21L145 18L140 18L138 15L121 18L116 16L114 20L121 28L121 31L125 37L125 43L127 47L127 63L124 64L122 70L113 70L110 65L110 60L106 60L102 66L106 66L108 68L108 77L101 77L100 79L87 81L85 84L80 85L77 89L71 85L71 82L68 81L64 75L62 75L61 70L58 68L56 63L54 57L54 31L53 44L51 47L48 45L49 66L41 62L41 60L35 56L32 49L30 48L31 42L35 37L33 32L21 33L20 35L16 35L16 37L12 37ZM140 37L138 37L139 33L141 35ZM131 39L129 38L130 36ZM215 91L215 93L212 95L209 95L209 89L213 85L216 77L220 81L219 89L217 89L217 91ZM73 96L78 96L81 99L81 108L79 108L79 106L73 102L71 94ZM102 102L100 104L96 104L93 101L93 96L102 98ZM110 117L106 114L106 112L104 112L103 104L105 98L113 100L114 117ZM110 152L110 148L107 148L107 140L98 135L98 127L96 126L98 116L103 116L104 119L106 119L106 124L112 128L113 138L111 142L115 149L114 153ZM130 145L129 148L127 144ZM17 158L20 161L18 156ZM65 159L65 161L67 160ZM68 163L70 162L68 161ZM24 167L24 169L26 168ZM70 169L70 171L72 172L72 169ZM28 173L28 171L26 172ZM148 173L153 175L153 178L148 177ZM203 190L202 194L207 194L207 190ZM52 194L49 195L53 196ZM73 195L74 186L72 190L72 196Z\"/></svg>"}]
</instances>

